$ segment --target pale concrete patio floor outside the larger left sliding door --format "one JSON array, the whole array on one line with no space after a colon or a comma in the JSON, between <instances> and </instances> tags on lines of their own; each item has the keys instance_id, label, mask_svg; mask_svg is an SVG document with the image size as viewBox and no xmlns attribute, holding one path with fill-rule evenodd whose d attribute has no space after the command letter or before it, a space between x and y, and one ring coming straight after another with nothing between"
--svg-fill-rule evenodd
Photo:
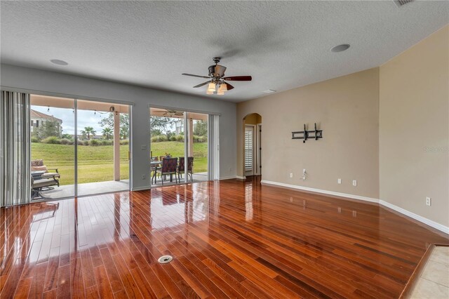
<instances>
[{"instance_id":1,"label":"pale concrete patio floor outside the larger left sliding door","mask_svg":"<svg viewBox=\"0 0 449 299\"><path fill-rule=\"evenodd\" d=\"M106 182L86 182L78 185L78 196L129 190L129 180L109 180ZM44 199L74 197L75 185L62 185L53 190L41 192ZM36 197L36 200L42 200Z\"/></svg>"}]
</instances>

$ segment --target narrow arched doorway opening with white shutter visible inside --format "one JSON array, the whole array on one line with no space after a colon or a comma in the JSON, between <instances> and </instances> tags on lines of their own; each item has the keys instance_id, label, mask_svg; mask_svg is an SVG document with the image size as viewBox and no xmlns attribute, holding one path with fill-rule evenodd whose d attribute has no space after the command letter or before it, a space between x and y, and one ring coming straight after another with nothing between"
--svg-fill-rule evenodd
<instances>
[{"instance_id":1,"label":"narrow arched doorway opening with white shutter visible inside","mask_svg":"<svg viewBox=\"0 0 449 299\"><path fill-rule=\"evenodd\" d=\"M262 175L262 116L243 117L243 176Z\"/></svg>"}]
</instances>

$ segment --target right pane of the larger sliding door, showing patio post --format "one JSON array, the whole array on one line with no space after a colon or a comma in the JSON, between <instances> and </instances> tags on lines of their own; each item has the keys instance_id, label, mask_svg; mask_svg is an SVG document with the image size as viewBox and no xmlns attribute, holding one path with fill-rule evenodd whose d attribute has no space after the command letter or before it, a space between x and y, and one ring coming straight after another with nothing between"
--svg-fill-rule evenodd
<instances>
[{"instance_id":1,"label":"right pane of the larger sliding door, showing patio post","mask_svg":"<svg viewBox=\"0 0 449 299\"><path fill-rule=\"evenodd\" d=\"M128 105L76 101L79 196L129 190Z\"/></svg>"}]
</instances>

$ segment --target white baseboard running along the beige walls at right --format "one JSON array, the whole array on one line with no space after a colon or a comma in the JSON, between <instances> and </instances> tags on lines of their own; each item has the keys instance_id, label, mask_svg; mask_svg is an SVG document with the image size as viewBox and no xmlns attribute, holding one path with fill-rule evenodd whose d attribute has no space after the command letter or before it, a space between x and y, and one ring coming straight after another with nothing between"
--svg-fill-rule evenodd
<instances>
[{"instance_id":1,"label":"white baseboard running along the beige walls at right","mask_svg":"<svg viewBox=\"0 0 449 299\"><path fill-rule=\"evenodd\" d=\"M328 190L321 190L321 189L315 189L315 188L310 188L310 187L302 187L302 186L298 186L298 185L290 185L290 184L284 184L283 182L272 182L269 180L261 180L260 181L262 184L266 184L266 185L274 185L274 186L279 186L279 187L286 187L286 188L291 188L291 189L297 189L297 190L303 190L303 191L309 191L309 192L316 192L316 193L321 193L321 194L328 194L328 195L333 195L336 197L347 197L349 199L358 199L361 201L369 201L369 202L374 202L377 204L380 204L381 206L386 206L387 208L391 208L392 210L401 213L403 215L406 215L410 218L413 218L415 220L418 220L422 223L424 223L425 225L429 225L430 227L434 227L434 229L439 230L441 232L444 232L445 234L449 234L449 227L446 227L444 225L439 224L438 222L429 220L427 218L424 218L420 215L417 215L415 213L412 213L410 211L407 211L406 209L400 208L398 206L395 206L394 204L390 204L387 201L383 201L382 199L374 199L371 197L362 197L360 195L354 195L354 194L347 194L347 193L340 193L340 192L333 192L333 191L328 191Z\"/></svg>"}]
</instances>

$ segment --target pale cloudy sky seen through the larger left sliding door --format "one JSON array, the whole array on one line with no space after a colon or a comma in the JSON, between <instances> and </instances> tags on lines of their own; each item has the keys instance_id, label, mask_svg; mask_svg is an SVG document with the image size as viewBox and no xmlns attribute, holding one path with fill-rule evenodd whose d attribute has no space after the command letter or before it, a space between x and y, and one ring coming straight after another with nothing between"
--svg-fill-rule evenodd
<instances>
[{"instance_id":1,"label":"pale cloudy sky seen through the larger left sliding door","mask_svg":"<svg viewBox=\"0 0 449 299\"><path fill-rule=\"evenodd\" d=\"M50 107L50 111L47 111L48 107L35 105L32 105L31 109L48 115L53 115L53 117L56 117L58 119L62 119L62 134L74 135L75 114L72 109ZM78 110L79 135L81 135L80 131L84 130L86 126L93 127L93 129L97 132L95 135L102 135L101 131L103 130L103 128L98 123L105 118L107 118L107 114L105 114L105 112L97 112L95 114L94 111L91 110Z\"/></svg>"}]
</instances>

